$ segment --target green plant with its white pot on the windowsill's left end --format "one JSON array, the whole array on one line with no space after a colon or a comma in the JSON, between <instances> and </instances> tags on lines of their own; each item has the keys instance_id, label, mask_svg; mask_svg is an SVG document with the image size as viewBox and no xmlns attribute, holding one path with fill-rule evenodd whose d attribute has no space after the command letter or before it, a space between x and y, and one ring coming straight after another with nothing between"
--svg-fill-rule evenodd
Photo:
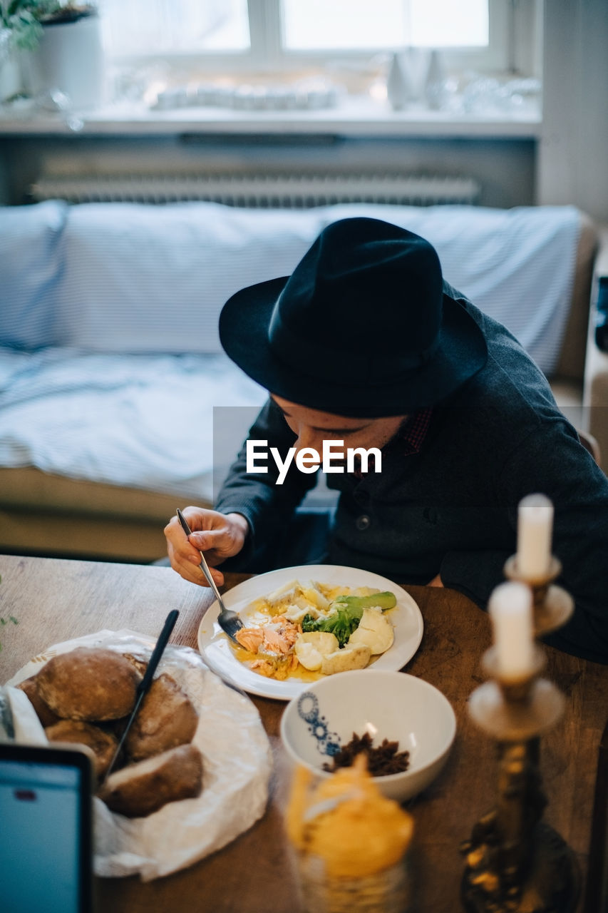
<instances>
[{"instance_id":1,"label":"green plant with its white pot on the windowsill's left end","mask_svg":"<svg viewBox=\"0 0 608 913\"><path fill-rule=\"evenodd\" d=\"M99 104L103 53L97 6L72 0L0 0L0 36L18 54L23 88L59 90L74 108ZM1 39L0 39L1 44Z\"/></svg>"}]
</instances>

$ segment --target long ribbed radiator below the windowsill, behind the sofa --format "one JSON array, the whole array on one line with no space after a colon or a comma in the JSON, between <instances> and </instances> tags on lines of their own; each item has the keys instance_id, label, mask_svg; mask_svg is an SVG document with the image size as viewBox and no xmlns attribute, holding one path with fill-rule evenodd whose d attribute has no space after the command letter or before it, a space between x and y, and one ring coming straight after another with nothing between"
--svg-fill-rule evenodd
<instances>
[{"instance_id":1,"label":"long ribbed radiator below the windowsill, behind the sofa","mask_svg":"<svg viewBox=\"0 0 608 913\"><path fill-rule=\"evenodd\" d=\"M233 206L305 208L336 203L395 205L477 203L470 177L412 174L46 174L30 188L35 202L175 203L208 200Z\"/></svg>"}]
</instances>

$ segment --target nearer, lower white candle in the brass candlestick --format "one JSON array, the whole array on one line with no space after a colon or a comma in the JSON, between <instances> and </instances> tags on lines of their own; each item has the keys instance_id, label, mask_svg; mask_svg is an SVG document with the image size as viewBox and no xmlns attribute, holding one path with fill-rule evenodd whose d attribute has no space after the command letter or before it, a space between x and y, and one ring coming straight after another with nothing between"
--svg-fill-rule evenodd
<instances>
[{"instance_id":1,"label":"nearer, lower white candle in the brass candlestick","mask_svg":"<svg viewBox=\"0 0 608 913\"><path fill-rule=\"evenodd\" d=\"M528 675L533 665L532 593L525 583L500 583L487 606L496 645L498 671L505 678Z\"/></svg>"}]
</instances>

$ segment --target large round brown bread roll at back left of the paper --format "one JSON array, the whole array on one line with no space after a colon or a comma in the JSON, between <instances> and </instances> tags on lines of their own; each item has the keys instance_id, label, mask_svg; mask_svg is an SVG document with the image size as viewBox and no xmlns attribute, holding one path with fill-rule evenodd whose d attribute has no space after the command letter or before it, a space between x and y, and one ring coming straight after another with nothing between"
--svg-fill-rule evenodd
<instances>
[{"instance_id":1,"label":"large round brown bread roll at back left of the paper","mask_svg":"<svg viewBox=\"0 0 608 913\"><path fill-rule=\"evenodd\" d=\"M62 719L120 719L135 706L141 675L113 650L79 646L53 656L37 674L41 698Z\"/></svg>"}]
</instances>

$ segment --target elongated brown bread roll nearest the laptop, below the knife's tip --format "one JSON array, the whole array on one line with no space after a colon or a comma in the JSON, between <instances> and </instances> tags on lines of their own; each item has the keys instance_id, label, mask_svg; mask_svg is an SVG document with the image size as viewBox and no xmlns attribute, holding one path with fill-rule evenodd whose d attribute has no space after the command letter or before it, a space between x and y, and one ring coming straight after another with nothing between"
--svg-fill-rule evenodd
<instances>
[{"instance_id":1,"label":"elongated brown bread roll nearest the laptop, below the knife's tip","mask_svg":"<svg viewBox=\"0 0 608 913\"><path fill-rule=\"evenodd\" d=\"M203 785L203 758L194 745L179 745L110 773L98 795L110 811L142 818L170 802L193 799Z\"/></svg>"}]
</instances>

